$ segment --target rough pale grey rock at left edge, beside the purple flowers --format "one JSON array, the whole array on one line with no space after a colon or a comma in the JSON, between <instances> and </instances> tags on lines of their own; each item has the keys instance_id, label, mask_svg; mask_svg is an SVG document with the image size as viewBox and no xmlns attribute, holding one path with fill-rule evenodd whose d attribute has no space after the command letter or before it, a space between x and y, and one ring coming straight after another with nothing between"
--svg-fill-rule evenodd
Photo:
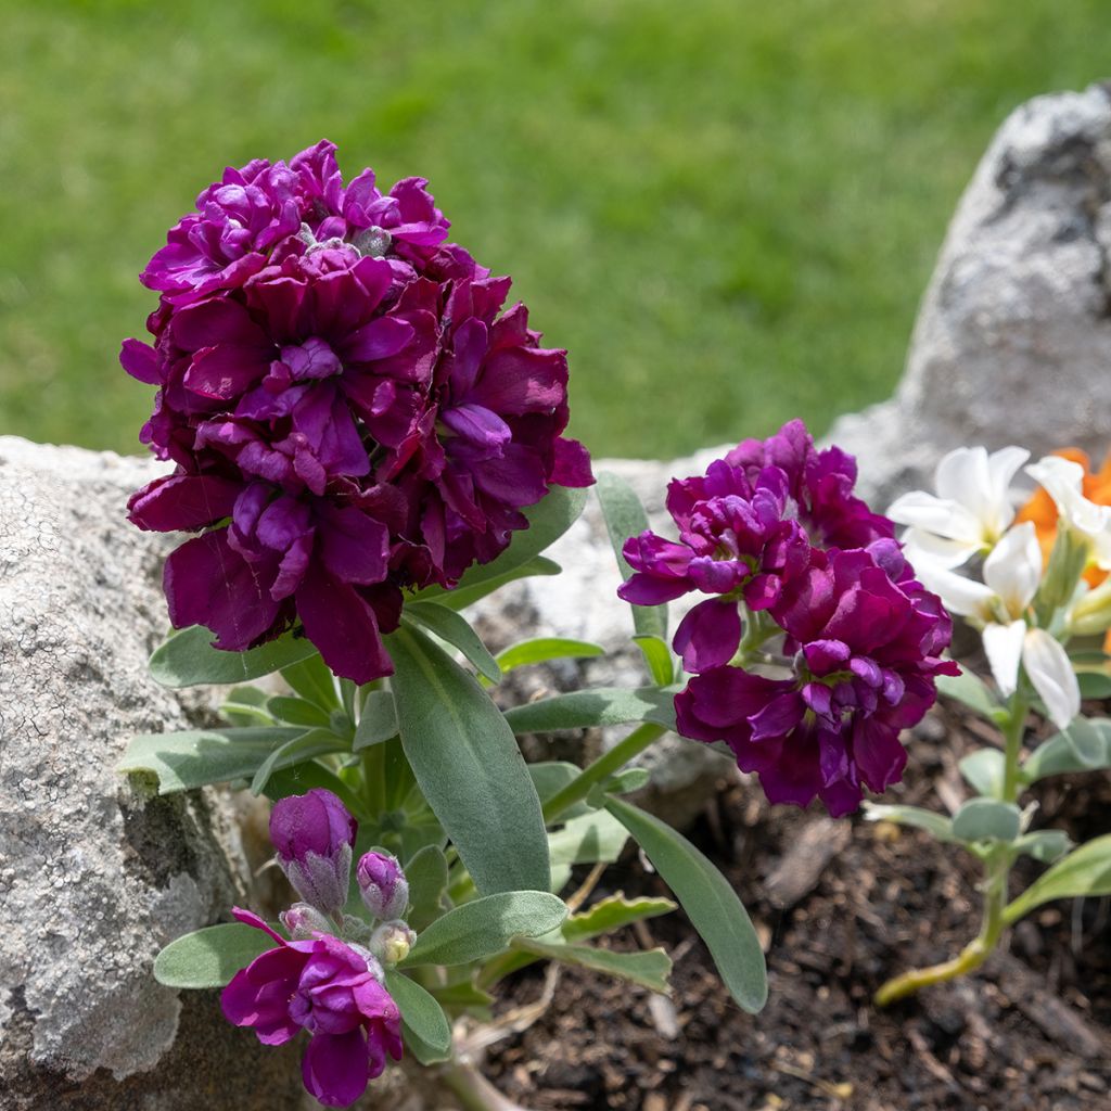
<instances>
[{"instance_id":1,"label":"rough pale grey rock at left edge, beside the purple flowers","mask_svg":"<svg viewBox=\"0 0 1111 1111\"><path fill-rule=\"evenodd\" d=\"M124 520L157 464L0 438L0 1105L296 1107L296 1054L216 995L151 977L169 940L248 898L214 791L158 798L114 770L129 734L191 710L147 673L169 538ZM227 1078L227 1080L224 1080ZM201 1085L208 1085L203 1088Z\"/></svg>"}]
</instances>

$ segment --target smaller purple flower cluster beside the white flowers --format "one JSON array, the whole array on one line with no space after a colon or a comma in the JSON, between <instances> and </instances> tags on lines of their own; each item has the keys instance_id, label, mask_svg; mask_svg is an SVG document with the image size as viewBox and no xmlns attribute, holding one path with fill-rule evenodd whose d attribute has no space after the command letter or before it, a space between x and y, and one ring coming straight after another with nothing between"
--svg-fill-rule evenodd
<instances>
[{"instance_id":1,"label":"smaller purple flower cluster beside the white flowers","mask_svg":"<svg viewBox=\"0 0 1111 1111\"><path fill-rule=\"evenodd\" d=\"M817 451L801 421L745 441L671 483L679 542L629 540L635 573L619 590L638 604L713 595L675 631L692 673L679 732L725 741L772 802L818 795L834 815L899 779L900 731L933 703L934 677L955 673L949 615L854 482L852 458ZM752 653L771 647L778 673L757 673Z\"/></svg>"}]
</instances>

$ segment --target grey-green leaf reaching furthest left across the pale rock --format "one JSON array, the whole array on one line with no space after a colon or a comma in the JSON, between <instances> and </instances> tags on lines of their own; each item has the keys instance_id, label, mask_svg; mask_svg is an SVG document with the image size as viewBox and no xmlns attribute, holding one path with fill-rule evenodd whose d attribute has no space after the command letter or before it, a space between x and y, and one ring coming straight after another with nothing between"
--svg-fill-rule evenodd
<instances>
[{"instance_id":1,"label":"grey-green leaf reaching furthest left across the pale rock","mask_svg":"<svg viewBox=\"0 0 1111 1111\"><path fill-rule=\"evenodd\" d=\"M303 729L279 727L140 733L131 738L117 767L120 771L153 772L159 793L169 794L208 783L251 779L274 749L303 735ZM288 762L293 764L298 759Z\"/></svg>"}]
</instances>

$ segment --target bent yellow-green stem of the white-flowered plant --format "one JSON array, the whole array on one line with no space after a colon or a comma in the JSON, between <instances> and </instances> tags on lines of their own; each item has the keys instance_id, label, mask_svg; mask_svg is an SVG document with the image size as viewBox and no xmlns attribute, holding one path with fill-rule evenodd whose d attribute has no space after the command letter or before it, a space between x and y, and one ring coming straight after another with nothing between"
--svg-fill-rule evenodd
<instances>
[{"instance_id":1,"label":"bent yellow-green stem of the white-flowered plant","mask_svg":"<svg viewBox=\"0 0 1111 1111\"><path fill-rule=\"evenodd\" d=\"M1022 692L1011 697L1007 723L1003 727L1003 783L1002 801L1018 802L1019 754L1030 704ZM983 883L983 921L980 933L953 960L930 968L903 972L883 983L875 993L875 1005L887 1007L897 999L912 995L921 988L955 980L973 972L991 955L1003 934L1003 910L1007 907L1007 881L1011 873L1013 855L1005 844L997 844L984 861L987 875Z\"/></svg>"}]
</instances>

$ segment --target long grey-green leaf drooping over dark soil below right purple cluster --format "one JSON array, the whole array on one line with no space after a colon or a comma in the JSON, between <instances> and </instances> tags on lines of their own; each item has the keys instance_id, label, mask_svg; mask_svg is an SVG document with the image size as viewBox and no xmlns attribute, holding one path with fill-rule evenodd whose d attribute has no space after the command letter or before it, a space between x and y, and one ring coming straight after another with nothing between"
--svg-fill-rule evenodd
<instances>
[{"instance_id":1,"label":"long grey-green leaf drooping over dark soil below right purple cluster","mask_svg":"<svg viewBox=\"0 0 1111 1111\"><path fill-rule=\"evenodd\" d=\"M635 838L674 892L710 950L729 993L742 1010L755 1014L768 1001L764 957L748 911L729 881L690 841L658 818L619 799L610 799L605 809Z\"/></svg>"}]
</instances>

